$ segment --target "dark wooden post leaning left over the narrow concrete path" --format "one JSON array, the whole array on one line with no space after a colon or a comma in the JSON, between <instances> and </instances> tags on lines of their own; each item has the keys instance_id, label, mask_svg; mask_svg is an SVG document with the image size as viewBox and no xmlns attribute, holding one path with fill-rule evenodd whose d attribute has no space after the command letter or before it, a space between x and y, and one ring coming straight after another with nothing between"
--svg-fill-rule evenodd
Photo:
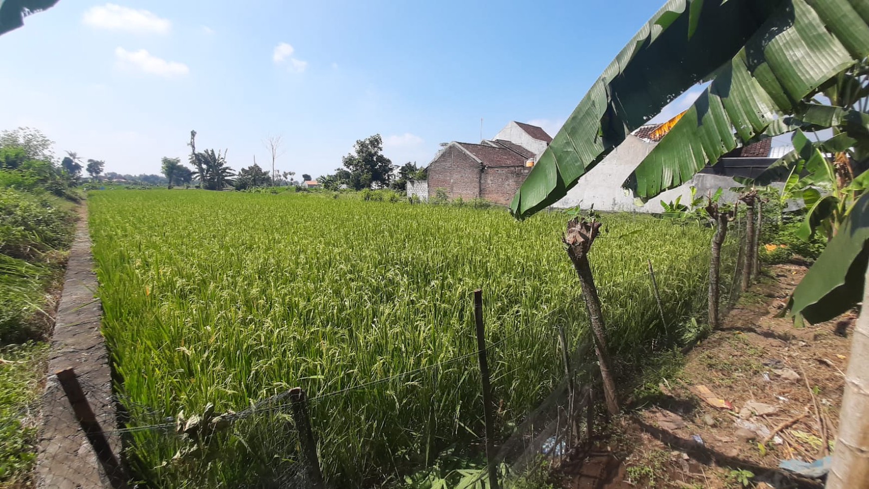
<instances>
[{"instance_id":1,"label":"dark wooden post leaning left over the narrow concrete path","mask_svg":"<svg viewBox=\"0 0 869 489\"><path fill-rule=\"evenodd\" d=\"M94 448L96 459L106 472L109 484L115 489L128 489L123 467L118 462L115 453L112 452L109 439L103 433L103 427L96 420L96 415L90 407L88 398L84 395L82 385L78 383L75 369L67 368L55 373L55 375L63 387L63 393L70 400L70 406L72 406L72 412L76 414L78 424L82 426L85 436L90 441L90 446Z\"/></svg>"}]
</instances>

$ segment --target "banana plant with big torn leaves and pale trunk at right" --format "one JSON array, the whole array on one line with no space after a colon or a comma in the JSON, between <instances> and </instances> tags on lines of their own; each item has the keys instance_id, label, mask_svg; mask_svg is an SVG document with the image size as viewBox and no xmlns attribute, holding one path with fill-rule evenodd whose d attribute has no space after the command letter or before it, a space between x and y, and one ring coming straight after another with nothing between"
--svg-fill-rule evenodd
<instances>
[{"instance_id":1,"label":"banana plant with big torn leaves and pale trunk at right","mask_svg":"<svg viewBox=\"0 0 869 489\"><path fill-rule=\"evenodd\" d=\"M631 131L707 80L712 83L693 107L622 184L640 198L678 187L740 145L795 129L834 127L833 140L813 149L826 143L862 155L869 149L866 103L847 105L836 95L867 93L865 77L853 74L866 56L866 0L670 0L582 98L510 210L522 219L557 202ZM862 297L869 194L858 195L851 195L851 212L839 213L839 232L794 291L789 308L796 320L838 314ZM869 311L854 337L827 482L835 489L862 486L869 474Z\"/></svg>"}]
</instances>

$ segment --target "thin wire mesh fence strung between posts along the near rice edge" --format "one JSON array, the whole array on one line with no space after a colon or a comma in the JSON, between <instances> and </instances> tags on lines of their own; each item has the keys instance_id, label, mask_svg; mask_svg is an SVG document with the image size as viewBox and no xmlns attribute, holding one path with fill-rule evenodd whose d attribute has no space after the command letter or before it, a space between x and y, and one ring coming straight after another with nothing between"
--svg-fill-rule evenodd
<instances>
[{"instance_id":1,"label":"thin wire mesh fence strung between posts along the near rice edge","mask_svg":"<svg viewBox=\"0 0 869 489\"><path fill-rule=\"evenodd\" d=\"M739 296L745 259L744 235L740 223L736 224L722 249L724 311ZM629 377L632 368L650 355L684 347L705 333L708 264L708 252L673 266L691 270L690 274L673 274L649 261L647 271L599 284L607 317L630 318L607 324L607 336L612 338L608 347L621 376ZM633 295L626 297L626 290ZM588 449L603 410L599 366L587 324L577 294L573 301L521 327L508 332L495 329L487 335L495 409L488 436L496 442L488 464L497 468L503 486L577 459ZM541 369L536 392L513 393L517 369L528 365L521 359L526 353L503 346L517 338L536 342L551 353L545 362L535 364ZM123 440L127 447L121 451L112 442L109 454L96 450L97 459L110 455L120 467L102 464L103 474L108 474L103 486L421 488L441 482L443 487L492 486L486 470L483 396L471 396L474 402L468 403L467 396L454 392L459 380L480 384L480 353L470 350L373 380L336 382L334 388L310 397L288 389L237 411L218 412L209 406L197 413L163 413L119 399L123 408L116 420L101 413L93 420L97 427L119 421L121 427L100 433L109 440ZM89 387L84 382L85 397ZM430 402L409 403L410 392L426 393ZM507 403L508 399L514 402ZM354 419L348 414L366 405L402 415L395 416L395 423L354 432L360 433L358 439L339 436L346 431L342 425ZM76 419L85 426L81 416ZM85 432L83 427L77 436L91 439ZM150 453L149 459L163 463L149 464L140 453ZM375 459L388 464L358 477L337 468L368 467Z\"/></svg>"}]
</instances>

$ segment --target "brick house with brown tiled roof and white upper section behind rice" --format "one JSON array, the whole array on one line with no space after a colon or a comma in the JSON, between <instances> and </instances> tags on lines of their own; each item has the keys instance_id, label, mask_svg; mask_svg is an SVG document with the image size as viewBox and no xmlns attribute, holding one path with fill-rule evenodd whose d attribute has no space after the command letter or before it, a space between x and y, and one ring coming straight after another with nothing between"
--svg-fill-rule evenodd
<instances>
[{"instance_id":1,"label":"brick house with brown tiled roof and white upper section behind rice","mask_svg":"<svg viewBox=\"0 0 869 489\"><path fill-rule=\"evenodd\" d=\"M542 128L510 122L493 139L479 144L442 144L428 164L428 181L415 182L411 192L421 194L424 184L428 199L441 190L450 199L484 199L507 205L549 142L552 137Z\"/></svg>"}]
</instances>

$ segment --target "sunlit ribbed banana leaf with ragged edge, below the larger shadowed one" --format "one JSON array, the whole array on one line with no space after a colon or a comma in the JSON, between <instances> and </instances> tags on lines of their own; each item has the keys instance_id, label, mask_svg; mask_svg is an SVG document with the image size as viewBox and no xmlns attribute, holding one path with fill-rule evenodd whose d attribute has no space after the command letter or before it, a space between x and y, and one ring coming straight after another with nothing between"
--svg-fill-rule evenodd
<instances>
[{"instance_id":1,"label":"sunlit ribbed banana leaf with ragged edge, below the larger shadowed one","mask_svg":"<svg viewBox=\"0 0 869 489\"><path fill-rule=\"evenodd\" d=\"M689 181L755 138L830 127L845 110L802 102L869 55L866 0L788 1L746 43L625 186L641 199ZM862 10L862 11L859 11ZM838 110L837 110L838 109Z\"/></svg>"}]
</instances>

